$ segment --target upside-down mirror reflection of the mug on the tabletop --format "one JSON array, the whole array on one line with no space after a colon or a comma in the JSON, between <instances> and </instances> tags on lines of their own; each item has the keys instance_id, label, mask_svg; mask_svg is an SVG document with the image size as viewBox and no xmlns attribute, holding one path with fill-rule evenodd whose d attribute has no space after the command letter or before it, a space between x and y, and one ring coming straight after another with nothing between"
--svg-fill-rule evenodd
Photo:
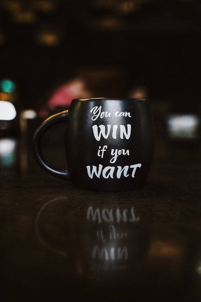
<instances>
[{"instance_id":1,"label":"upside-down mirror reflection of the mug on the tabletop","mask_svg":"<svg viewBox=\"0 0 201 302\"><path fill-rule=\"evenodd\" d=\"M41 207L35 220L41 244L63 257L64 265L70 260L73 268L68 270L87 279L115 283L138 278L150 244L150 224L144 226L138 206L107 204L105 198L100 205L92 196L76 208L68 207L71 202L59 197Z\"/></svg>"}]
</instances>

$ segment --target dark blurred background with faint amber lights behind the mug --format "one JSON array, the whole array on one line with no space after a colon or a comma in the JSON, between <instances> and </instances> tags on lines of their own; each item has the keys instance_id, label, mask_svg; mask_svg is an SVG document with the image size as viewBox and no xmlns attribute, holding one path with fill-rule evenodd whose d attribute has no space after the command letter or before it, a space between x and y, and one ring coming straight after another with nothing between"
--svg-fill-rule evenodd
<instances>
[{"instance_id":1,"label":"dark blurred background with faint amber lights behind the mug","mask_svg":"<svg viewBox=\"0 0 201 302\"><path fill-rule=\"evenodd\" d=\"M72 81L70 98L147 98L159 136L170 114L197 125L200 18L198 0L1 0L1 137L68 107L49 100Z\"/></svg>"}]
</instances>

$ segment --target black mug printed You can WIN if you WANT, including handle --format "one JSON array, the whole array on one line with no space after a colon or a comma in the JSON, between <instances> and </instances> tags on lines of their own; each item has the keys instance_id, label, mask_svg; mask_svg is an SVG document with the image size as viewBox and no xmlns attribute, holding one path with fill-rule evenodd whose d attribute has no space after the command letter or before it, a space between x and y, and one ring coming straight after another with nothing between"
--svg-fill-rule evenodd
<instances>
[{"instance_id":1,"label":"black mug printed You can WIN if you WANT, including handle","mask_svg":"<svg viewBox=\"0 0 201 302\"><path fill-rule=\"evenodd\" d=\"M68 170L49 165L41 139L64 122ZM149 103L132 98L74 99L69 110L50 116L35 131L35 159L54 176L95 191L141 187L154 154L154 127Z\"/></svg>"}]
</instances>

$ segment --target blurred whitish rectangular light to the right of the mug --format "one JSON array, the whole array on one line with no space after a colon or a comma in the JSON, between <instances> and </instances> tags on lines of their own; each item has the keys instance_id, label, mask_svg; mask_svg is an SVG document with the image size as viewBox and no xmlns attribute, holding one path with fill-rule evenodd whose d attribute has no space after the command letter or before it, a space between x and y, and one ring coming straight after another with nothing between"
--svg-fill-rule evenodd
<instances>
[{"instance_id":1,"label":"blurred whitish rectangular light to the right of the mug","mask_svg":"<svg viewBox=\"0 0 201 302\"><path fill-rule=\"evenodd\" d=\"M198 139L200 119L198 115L168 115L167 134L172 139Z\"/></svg>"}]
</instances>

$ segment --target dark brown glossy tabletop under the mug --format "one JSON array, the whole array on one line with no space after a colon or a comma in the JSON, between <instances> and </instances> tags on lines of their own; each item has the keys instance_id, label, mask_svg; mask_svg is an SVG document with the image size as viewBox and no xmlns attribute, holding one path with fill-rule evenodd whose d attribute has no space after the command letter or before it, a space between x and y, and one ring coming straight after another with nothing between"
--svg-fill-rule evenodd
<instances>
[{"instance_id":1,"label":"dark brown glossy tabletop under the mug","mask_svg":"<svg viewBox=\"0 0 201 302\"><path fill-rule=\"evenodd\" d=\"M30 146L8 141L2 302L201 300L199 143L156 142L144 186L108 193L48 175ZM59 148L44 152L63 167Z\"/></svg>"}]
</instances>

